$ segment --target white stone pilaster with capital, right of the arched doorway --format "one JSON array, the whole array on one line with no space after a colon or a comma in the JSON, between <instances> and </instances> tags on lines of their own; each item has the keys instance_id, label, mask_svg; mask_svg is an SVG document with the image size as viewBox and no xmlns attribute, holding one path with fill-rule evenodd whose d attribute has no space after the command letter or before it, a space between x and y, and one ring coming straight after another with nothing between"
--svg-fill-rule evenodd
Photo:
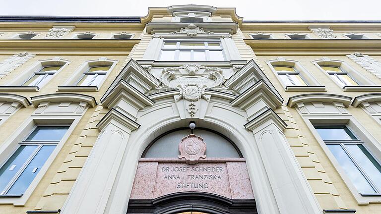
<instances>
[{"instance_id":1,"label":"white stone pilaster with capital, right of the arched doorway","mask_svg":"<svg viewBox=\"0 0 381 214\"><path fill-rule=\"evenodd\" d=\"M286 124L268 109L245 127L252 131L280 214L321 214L318 202L283 134Z\"/></svg>"}]
</instances>

